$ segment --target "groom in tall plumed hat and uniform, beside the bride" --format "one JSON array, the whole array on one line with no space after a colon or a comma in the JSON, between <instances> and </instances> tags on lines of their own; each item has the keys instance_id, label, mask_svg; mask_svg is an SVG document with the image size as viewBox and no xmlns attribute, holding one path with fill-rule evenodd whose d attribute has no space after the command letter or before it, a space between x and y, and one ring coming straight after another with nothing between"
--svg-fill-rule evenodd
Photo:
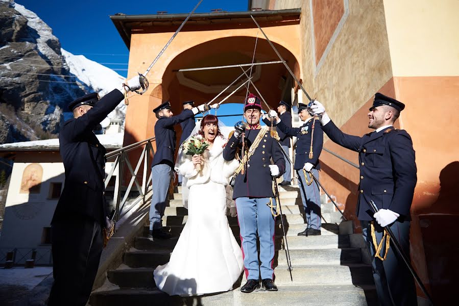
<instances>
[{"instance_id":1,"label":"groom in tall plumed hat and uniform, beside the bride","mask_svg":"<svg viewBox=\"0 0 459 306\"><path fill-rule=\"evenodd\" d=\"M247 283L240 291L246 293L260 288L260 274L263 288L277 291L273 282L275 218L272 213L277 208L272 177L280 176L284 172L285 160L277 140L271 137L265 127L260 126L260 111L260 99L250 94L244 107L248 125L244 127L243 124L236 123L236 130L233 135L230 134L223 150L225 160L241 159L239 168L235 171L233 199L236 201L247 277ZM244 137L241 137L243 133ZM247 142L244 146L241 138ZM261 266L258 262L257 233L260 239Z\"/></svg>"}]
</instances>

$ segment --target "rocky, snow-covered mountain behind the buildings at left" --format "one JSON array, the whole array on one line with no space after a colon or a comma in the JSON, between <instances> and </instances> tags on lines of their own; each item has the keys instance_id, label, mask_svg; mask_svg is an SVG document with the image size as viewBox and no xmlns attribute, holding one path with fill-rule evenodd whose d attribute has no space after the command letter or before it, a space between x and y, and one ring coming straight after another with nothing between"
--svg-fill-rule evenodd
<instances>
[{"instance_id":1,"label":"rocky, snow-covered mountain behind the buildings at left","mask_svg":"<svg viewBox=\"0 0 459 306\"><path fill-rule=\"evenodd\" d=\"M103 96L124 80L110 68L62 49L34 12L0 0L0 143L57 135L71 116L70 101L93 91ZM124 104L109 117L124 121Z\"/></svg>"}]
</instances>

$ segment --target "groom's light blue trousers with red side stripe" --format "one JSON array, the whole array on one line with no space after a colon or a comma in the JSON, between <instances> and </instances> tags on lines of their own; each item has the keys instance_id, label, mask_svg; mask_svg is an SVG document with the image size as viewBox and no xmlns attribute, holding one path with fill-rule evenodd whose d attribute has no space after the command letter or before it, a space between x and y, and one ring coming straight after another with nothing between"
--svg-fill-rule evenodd
<instances>
[{"instance_id":1,"label":"groom's light blue trousers with red side stripe","mask_svg":"<svg viewBox=\"0 0 459 306\"><path fill-rule=\"evenodd\" d=\"M247 279L274 278L274 229L275 220L268 207L270 198L236 198L237 220ZM273 204L275 205L273 199ZM260 239L258 262L257 232Z\"/></svg>"}]
</instances>

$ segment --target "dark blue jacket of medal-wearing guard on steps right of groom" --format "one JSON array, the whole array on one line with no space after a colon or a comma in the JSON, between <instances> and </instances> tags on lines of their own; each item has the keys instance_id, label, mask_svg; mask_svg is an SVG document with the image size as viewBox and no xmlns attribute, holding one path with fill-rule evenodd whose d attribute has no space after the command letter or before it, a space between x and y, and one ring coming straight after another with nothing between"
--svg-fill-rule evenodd
<instances>
[{"instance_id":1,"label":"dark blue jacket of medal-wearing guard on steps right of groom","mask_svg":"<svg viewBox=\"0 0 459 306\"><path fill-rule=\"evenodd\" d=\"M316 120L314 126L314 138L312 139L312 158L309 158L309 151L311 148L311 135L312 135L312 119L306 121L300 127L287 126L283 120L277 124L277 130L284 132L289 136L297 137L297 144L295 150L295 170L303 168L305 163L311 163L314 168L319 170L319 156L322 152L324 144L324 132L322 131L322 123Z\"/></svg>"}]
</instances>

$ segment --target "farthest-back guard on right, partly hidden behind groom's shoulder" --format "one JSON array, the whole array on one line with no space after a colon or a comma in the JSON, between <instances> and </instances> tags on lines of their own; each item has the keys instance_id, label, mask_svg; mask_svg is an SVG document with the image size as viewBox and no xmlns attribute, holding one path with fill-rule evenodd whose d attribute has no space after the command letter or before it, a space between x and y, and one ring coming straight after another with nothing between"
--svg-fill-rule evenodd
<instances>
[{"instance_id":1,"label":"farthest-back guard on right, partly hidden behind groom's shoulder","mask_svg":"<svg viewBox=\"0 0 459 306\"><path fill-rule=\"evenodd\" d=\"M292 114L290 113L291 106L290 104L280 101L279 106L277 107L277 112L279 113L279 118L282 120L282 122L289 127L292 127ZM277 114L276 114L277 116ZM262 116L264 124L271 126L271 116ZM276 123L273 122L273 125L275 126ZM283 131L278 130L277 134L279 135L279 143L282 146L282 149L284 152L287 154L287 156L290 156L290 140L292 139L289 135L286 135ZM285 172L282 175L283 181L282 183L279 183L279 185L291 185L292 182L292 171L291 171L291 165L290 162L288 161L287 157L285 157Z\"/></svg>"}]
</instances>

